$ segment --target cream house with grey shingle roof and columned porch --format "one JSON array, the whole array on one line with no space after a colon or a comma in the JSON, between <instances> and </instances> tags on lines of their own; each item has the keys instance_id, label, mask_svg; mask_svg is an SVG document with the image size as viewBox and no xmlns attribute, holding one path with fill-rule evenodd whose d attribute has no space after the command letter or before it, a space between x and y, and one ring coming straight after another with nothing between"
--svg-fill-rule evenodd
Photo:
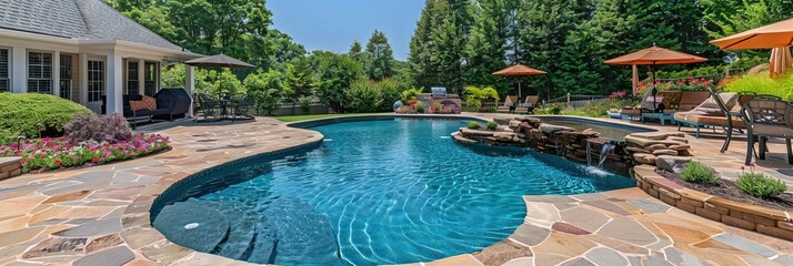
<instances>
[{"instance_id":1,"label":"cream house with grey shingle roof and columned porch","mask_svg":"<svg viewBox=\"0 0 793 266\"><path fill-rule=\"evenodd\" d=\"M0 92L47 93L101 113L123 94L153 95L164 64L202 57L101 0L0 0ZM193 91L187 66L184 89Z\"/></svg>"}]
</instances>

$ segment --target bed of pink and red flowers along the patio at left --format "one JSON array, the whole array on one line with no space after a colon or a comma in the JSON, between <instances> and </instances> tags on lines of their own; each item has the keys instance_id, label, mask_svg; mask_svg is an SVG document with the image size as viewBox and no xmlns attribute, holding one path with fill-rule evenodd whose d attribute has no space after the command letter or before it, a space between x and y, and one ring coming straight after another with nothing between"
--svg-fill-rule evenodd
<instances>
[{"instance_id":1,"label":"bed of pink and red flowers along the patio at left","mask_svg":"<svg viewBox=\"0 0 793 266\"><path fill-rule=\"evenodd\" d=\"M170 149L170 140L159 134L137 134L127 141L74 142L69 137L44 137L0 146L0 157L22 157L22 171L42 172L63 167L106 164L142 157Z\"/></svg>"}]
</instances>

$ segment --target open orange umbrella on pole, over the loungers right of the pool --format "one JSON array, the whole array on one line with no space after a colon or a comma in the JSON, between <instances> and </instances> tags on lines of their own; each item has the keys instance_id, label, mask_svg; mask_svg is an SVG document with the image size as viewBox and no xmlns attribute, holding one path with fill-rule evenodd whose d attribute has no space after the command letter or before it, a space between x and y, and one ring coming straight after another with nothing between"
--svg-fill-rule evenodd
<instances>
[{"instance_id":1,"label":"open orange umbrella on pole, over the loungers right of the pool","mask_svg":"<svg viewBox=\"0 0 793 266\"><path fill-rule=\"evenodd\" d=\"M705 61L707 61L705 58L660 48L653 44L651 48L608 60L605 63L614 65L650 65L653 74L653 106L655 106L655 93L658 93L658 89L655 89L655 65L700 63Z\"/></svg>"}]
</instances>

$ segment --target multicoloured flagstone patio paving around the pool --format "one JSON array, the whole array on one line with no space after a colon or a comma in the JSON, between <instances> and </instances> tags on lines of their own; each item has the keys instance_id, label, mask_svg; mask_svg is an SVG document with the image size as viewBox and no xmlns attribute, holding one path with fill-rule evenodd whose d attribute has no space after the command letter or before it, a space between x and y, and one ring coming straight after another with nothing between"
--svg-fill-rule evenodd
<instances>
[{"instance_id":1,"label":"multicoloured flagstone patio paving around the pool","mask_svg":"<svg viewBox=\"0 0 793 266\"><path fill-rule=\"evenodd\" d=\"M153 200L201 170L322 139L269 117L148 130L170 136L173 150L0 181L0 265L245 265L167 241L150 225ZM422 264L793 265L793 243L694 216L639 188L524 201L525 224L508 239Z\"/></svg>"}]
</instances>

